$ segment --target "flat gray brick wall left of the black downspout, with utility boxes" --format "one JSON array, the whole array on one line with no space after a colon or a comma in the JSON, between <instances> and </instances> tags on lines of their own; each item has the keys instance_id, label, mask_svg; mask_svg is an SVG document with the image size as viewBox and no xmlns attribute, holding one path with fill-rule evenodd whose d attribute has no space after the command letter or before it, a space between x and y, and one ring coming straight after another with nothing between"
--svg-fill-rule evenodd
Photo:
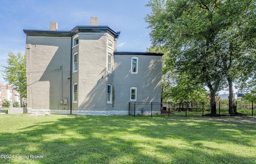
<instances>
[{"instance_id":1,"label":"flat gray brick wall left of the black downspout, with utility boxes","mask_svg":"<svg viewBox=\"0 0 256 164\"><path fill-rule=\"evenodd\" d=\"M28 113L70 110L70 49L71 37L27 36Z\"/></svg>"}]
</instances>

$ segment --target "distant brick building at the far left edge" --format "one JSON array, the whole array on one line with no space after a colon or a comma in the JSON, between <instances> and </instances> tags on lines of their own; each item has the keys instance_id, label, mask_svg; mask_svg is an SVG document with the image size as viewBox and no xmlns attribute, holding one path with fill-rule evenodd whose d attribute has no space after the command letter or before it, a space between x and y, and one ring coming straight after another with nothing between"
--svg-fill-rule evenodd
<instances>
[{"instance_id":1,"label":"distant brick building at the far left edge","mask_svg":"<svg viewBox=\"0 0 256 164\"><path fill-rule=\"evenodd\" d=\"M16 90L12 88L12 86L0 84L0 100L1 104L0 107L2 107L2 102L4 99L11 102L11 106L14 102L19 102L20 104L20 94Z\"/></svg>"}]
</instances>

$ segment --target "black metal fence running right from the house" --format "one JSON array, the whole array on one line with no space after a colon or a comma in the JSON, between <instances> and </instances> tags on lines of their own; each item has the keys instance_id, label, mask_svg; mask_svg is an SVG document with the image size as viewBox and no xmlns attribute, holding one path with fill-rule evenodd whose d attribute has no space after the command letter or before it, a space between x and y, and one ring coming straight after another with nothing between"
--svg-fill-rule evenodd
<instances>
[{"instance_id":1,"label":"black metal fence running right from the house","mask_svg":"<svg viewBox=\"0 0 256 164\"><path fill-rule=\"evenodd\" d=\"M134 117L204 117L256 116L256 102L129 102L129 115Z\"/></svg>"}]
</instances>

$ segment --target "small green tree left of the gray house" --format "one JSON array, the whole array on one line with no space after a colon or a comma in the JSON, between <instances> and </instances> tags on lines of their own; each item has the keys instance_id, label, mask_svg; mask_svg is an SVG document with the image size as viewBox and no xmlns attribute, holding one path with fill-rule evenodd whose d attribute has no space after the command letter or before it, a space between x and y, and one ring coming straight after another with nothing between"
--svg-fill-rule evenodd
<instances>
[{"instance_id":1,"label":"small green tree left of the gray house","mask_svg":"<svg viewBox=\"0 0 256 164\"><path fill-rule=\"evenodd\" d=\"M20 93L20 102L22 103L22 98L27 97L26 55L22 55L20 52L14 55L10 52L8 53L7 64L8 66L2 65L5 68L2 75L8 85Z\"/></svg>"}]
</instances>

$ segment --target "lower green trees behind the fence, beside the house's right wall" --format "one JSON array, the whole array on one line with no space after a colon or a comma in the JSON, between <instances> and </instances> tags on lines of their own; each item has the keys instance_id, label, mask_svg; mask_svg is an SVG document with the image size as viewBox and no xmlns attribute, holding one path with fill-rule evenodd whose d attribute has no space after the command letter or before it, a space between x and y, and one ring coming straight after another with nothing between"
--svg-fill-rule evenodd
<instances>
[{"instance_id":1,"label":"lower green trees behind the fence, beside the house's right wall","mask_svg":"<svg viewBox=\"0 0 256 164\"><path fill-rule=\"evenodd\" d=\"M206 89L193 83L193 80L177 72L175 58L169 55L165 47L150 47L147 52L163 53L162 56L162 92L161 102L204 102L207 100Z\"/></svg>"}]
</instances>

